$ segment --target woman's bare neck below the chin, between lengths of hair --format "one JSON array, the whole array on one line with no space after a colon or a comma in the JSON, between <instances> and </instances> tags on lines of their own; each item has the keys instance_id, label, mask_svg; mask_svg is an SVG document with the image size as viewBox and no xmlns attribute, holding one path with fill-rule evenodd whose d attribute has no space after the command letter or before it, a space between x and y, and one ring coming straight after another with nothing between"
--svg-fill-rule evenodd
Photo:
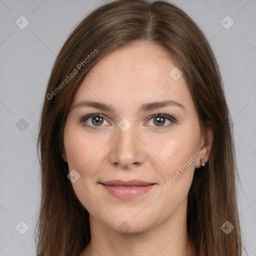
<instances>
[{"instance_id":1,"label":"woman's bare neck below the chin, between lengths of hair","mask_svg":"<svg viewBox=\"0 0 256 256\"><path fill-rule=\"evenodd\" d=\"M91 240L80 256L193 255L193 246L186 229L186 203L182 204L166 221L139 233L117 232L91 215L89 220Z\"/></svg>"}]
</instances>

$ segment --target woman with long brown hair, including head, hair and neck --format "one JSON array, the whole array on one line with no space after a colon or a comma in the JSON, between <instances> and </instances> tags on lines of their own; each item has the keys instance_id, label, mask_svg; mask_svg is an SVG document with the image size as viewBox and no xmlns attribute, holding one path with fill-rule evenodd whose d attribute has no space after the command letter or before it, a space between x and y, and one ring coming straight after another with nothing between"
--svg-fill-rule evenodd
<instances>
[{"instance_id":1,"label":"woman with long brown hair, including head, hair and neck","mask_svg":"<svg viewBox=\"0 0 256 256\"><path fill-rule=\"evenodd\" d=\"M37 255L241 255L231 120L198 26L116 0L54 63L38 137Z\"/></svg>"}]
</instances>

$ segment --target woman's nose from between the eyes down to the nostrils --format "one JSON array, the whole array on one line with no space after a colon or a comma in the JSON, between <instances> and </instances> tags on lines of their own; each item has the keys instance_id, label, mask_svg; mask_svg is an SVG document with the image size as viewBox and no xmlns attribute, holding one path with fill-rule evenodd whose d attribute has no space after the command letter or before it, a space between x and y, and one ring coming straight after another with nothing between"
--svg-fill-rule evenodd
<instances>
[{"instance_id":1,"label":"woman's nose from between the eyes down to the nostrils","mask_svg":"<svg viewBox=\"0 0 256 256\"><path fill-rule=\"evenodd\" d=\"M141 164L144 161L145 150L141 146L141 141L137 138L139 133L135 125L131 125L124 118L118 123L116 133L113 148L110 152L110 161L126 167L133 163Z\"/></svg>"}]
</instances>

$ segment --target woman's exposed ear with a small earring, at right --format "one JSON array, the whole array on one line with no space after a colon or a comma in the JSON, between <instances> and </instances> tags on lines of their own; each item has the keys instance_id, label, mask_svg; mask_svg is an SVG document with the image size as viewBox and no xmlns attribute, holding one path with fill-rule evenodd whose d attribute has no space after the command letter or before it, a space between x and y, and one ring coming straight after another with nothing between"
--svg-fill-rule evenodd
<instances>
[{"instance_id":1,"label":"woman's exposed ear with a small earring, at right","mask_svg":"<svg viewBox=\"0 0 256 256\"><path fill-rule=\"evenodd\" d=\"M206 163L209 159L209 154L212 148L212 143L214 139L214 131L215 125L212 122L208 122L205 125L203 135L200 138L198 151L200 151L200 156L196 159L195 168L199 168L201 166L200 160L203 158Z\"/></svg>"}]
</instances>

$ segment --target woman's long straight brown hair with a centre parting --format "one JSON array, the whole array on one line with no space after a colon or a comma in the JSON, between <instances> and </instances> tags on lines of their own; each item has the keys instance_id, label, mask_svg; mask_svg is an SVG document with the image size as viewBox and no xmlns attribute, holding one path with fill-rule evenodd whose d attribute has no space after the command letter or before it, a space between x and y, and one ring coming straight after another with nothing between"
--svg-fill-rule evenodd
<instances>
[{"instance_id":1,"label":"woman's long straight brown hair with a centre parting","mask_svg":"<svg viewBox=\"0 0 256 256\"><path fill-rule=\"evenodd\" d=\"M196 255L241 255L232 125L212 49L196 23L174 4L115 0L76 26L49 77L37 144L41 167L37 256L77 256L90 241L89 214L74 194L67 163L61 158L63 128L88 70L111 50L140 41L169 52L183 72L200 128L209 122L215 125L209 160L195 171L188 192L187 232ZM234 226L229 234L220 228L225 221Z\"/></svg>"}]
</instances>

